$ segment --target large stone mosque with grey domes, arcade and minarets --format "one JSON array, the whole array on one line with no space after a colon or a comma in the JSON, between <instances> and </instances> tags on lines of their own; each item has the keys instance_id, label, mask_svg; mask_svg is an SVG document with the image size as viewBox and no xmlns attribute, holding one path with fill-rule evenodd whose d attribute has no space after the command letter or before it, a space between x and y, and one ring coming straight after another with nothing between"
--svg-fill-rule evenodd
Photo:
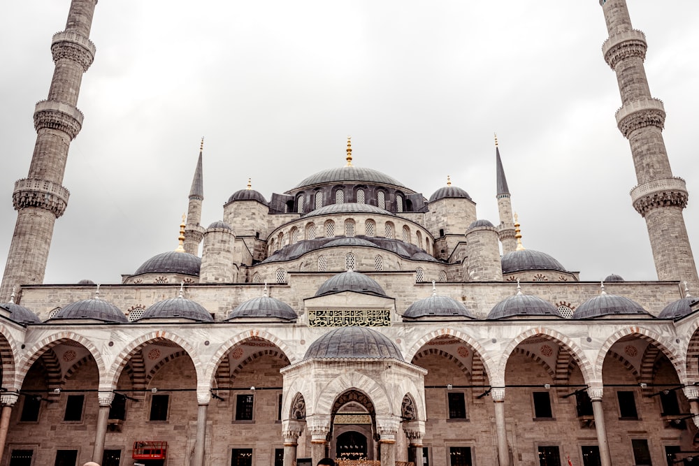
<instances>
[{"instance_id":1,"label":"large stone mosque with grey domes, arcade and minarets","mask_svg":"<svg viewBox=\"0 0 699 466\"><path fill-rule=\"evenodd\" d=\"M687 192L624 0L600 1L603 52L658 281L580 282L525 249L497 142L493 224L450 182L427 198L354 166L348 140L345 166L269 200L248 185L207 228L202 147L175 251L120 284L43 284L95 5L73 0L53 38L55 75L13 194L0 465L693 464Z\"/></svg>"}]
</instances>

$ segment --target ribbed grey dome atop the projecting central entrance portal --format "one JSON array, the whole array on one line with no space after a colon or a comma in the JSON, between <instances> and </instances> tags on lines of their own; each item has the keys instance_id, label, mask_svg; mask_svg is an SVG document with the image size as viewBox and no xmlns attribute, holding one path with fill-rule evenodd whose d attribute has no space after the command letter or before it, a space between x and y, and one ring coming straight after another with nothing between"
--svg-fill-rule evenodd
<instances>
[{"instance_id":1,"label":"ribbed grey dome atop the projecting central entrance portal","mask_svg":"<svg viewBox=\"0 0 699 466\"><path fill-rule=\"evenodd\" d=\"M394 358L405 361L401 350L388 337L366 327L340 327L315 340L303 359Z\"/></svg>"}]
</instances>

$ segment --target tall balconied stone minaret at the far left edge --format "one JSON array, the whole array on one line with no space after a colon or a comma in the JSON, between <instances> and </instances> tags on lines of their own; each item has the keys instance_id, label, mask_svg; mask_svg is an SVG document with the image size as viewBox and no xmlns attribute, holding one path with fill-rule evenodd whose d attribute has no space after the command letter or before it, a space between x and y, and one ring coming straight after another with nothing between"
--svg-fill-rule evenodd
<instances>
[{"instance_id":1,"label":"tall balconied stone minaret at the far left edge","mask_svg":"<svg viewBox=\"0 0 699 466\"><path fill-rule=\"evenodd\" d=\"M0 301L13 286L41 284L53 235L53 226L68 205L69 191L62 186L71 141L82 127L78 103L82 73L92 64L95 47L89 40L97 0L73 0L66 30L53 36L55 62L48 99L36 104L36 143L29 175L15 182L12 200L17 210Z\"/></svg>"}]
</instances>

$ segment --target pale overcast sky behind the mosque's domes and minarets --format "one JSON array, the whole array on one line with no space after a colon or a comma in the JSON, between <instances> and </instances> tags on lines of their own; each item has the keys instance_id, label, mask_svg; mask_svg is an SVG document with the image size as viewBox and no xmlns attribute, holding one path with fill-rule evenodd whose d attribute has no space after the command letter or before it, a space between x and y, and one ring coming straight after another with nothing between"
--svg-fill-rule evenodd
<instances>
[{"instance_id":1,"label":"pale overcast sky behind the mosque's domes and minarets","mask_svg":"<svg viewBox=\"0 0 699 466\"><path fill-rule=\"evenodd\" d=\"M3 257L69 3L13 2L0 28ZM628 6L699 256L699 2ZM597 0L102 0L90 38L45 283L119 283L175 249L202 136L204 226L248 177L269 200L342 166L348 135L355 166L426 198L449 175L497 223L495 132L527 249L582 280L656 279Z\"/></svg>"}]
</instances>

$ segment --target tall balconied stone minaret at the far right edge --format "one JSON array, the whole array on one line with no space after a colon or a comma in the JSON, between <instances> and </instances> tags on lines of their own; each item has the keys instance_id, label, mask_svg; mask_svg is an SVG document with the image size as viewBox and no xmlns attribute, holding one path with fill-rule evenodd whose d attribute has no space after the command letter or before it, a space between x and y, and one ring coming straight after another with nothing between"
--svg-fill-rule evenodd
<instances>
[{"instance_id":1,"label":"tall balconied stone minaret at the far right edge","mask_svg":"<svg viewBox=\"0 0 699 466\"><path fill-rule=\"evenodd\" d=\"M605 61L617 73L621 108L617 126L628 139L638 185L631 190L633 207L644 219L661 280L686 280L699 286L682 209L687 204L684 180L672 176L663 141L665 108L651 97L643 61L646 38L631 27L626 0L600 0L610 37Z\"/></svg>"}]
</instances>

